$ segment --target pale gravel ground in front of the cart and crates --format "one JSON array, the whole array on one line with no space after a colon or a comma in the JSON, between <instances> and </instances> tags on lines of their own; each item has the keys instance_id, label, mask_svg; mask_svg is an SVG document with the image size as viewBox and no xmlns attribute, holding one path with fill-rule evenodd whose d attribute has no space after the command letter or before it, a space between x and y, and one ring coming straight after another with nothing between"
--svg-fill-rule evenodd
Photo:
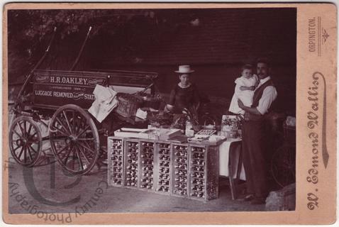
<instances>
[{"instance_id":1,"label":"pale gravel ground in front of the cart and crates","mask_svg":"<svg viewBox=\"0 0 339 227\"><path fill-rule=\"evenodd\" d=\"M71 177L57 162L26 168L10 158L9 213L29 213L33 206L48 213L79 214L265 210L265 205L232 200L225 178L220 181L219 198L207 202L111 187L106 179L106 167L95 168L91 175Z\"/></svg>"}]
</instances>

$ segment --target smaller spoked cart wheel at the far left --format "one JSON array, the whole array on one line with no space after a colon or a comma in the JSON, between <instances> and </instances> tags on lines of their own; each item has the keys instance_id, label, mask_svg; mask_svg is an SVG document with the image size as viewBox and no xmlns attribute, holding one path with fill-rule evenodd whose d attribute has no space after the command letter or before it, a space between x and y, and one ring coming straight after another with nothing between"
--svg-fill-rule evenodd
<instances>
[{"instance_id":1,"label":"smaller spoked cart wheel at the far left","mask_svg":"<svg viewBox=\"0 0 339 227\"><path fill-rule=\"evenodd\" d=\"M38 124L32 118L19 116L9 129L11 155L21 165L31 167L38 161L43 141Z\"/></svg>"}]
</instances>

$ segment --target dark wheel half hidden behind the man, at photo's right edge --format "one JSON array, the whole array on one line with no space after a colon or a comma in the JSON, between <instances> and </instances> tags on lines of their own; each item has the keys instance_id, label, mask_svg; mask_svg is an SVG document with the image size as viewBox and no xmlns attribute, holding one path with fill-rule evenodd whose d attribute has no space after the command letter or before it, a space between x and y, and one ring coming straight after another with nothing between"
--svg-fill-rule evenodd
<instances>
[{"instance_id":1,"label":"dark wheel half hidden behind the man, at photo's right edge","mask_svg":"<svg viewBox=\"0 0 339 227\"><path fill-rule=\"evenodd\" d=\"M296 182L296 148L282 145L272 155L271 171L280 187Z\"/></svg>"}]
</instances>

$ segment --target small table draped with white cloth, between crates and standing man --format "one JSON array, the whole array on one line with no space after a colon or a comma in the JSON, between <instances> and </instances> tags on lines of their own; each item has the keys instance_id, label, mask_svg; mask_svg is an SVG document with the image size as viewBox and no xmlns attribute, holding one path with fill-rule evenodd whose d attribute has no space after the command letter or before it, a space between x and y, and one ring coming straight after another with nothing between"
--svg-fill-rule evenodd
<instances>
[{"instance_id":1,"label":"small table draped with white cloth, between crates and standing man","mask_svg":"<svg viewBox=\"0 0 339 227\"><path fill-rule=\"evenodd\" d=\"M241 155L241 138L228 138L219 145L219 175L230 180L232 199L236 199L237 190L234 178L245 180L245 171Z\"/></svg>"}]
</instances>

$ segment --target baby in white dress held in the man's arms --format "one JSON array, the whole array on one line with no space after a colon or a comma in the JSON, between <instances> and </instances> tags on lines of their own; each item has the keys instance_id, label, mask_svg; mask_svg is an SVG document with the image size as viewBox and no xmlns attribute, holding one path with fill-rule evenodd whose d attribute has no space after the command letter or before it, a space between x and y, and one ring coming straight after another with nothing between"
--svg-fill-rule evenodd
<instances>
[{"instance_id":1,"label":"baby in white dress held in the man's arms","mask_svg":"<svg viewBox=\"0 0 339 227\"><path fill-rule=\"evenodd\" d=\"M228 109L233 114L245 114L245 111L238 106L238 99L243 101L245 106L252 106L253 94L259 84L257 75L252 74L252 65L244 65L241 70L241 77L235 79L234 94Z\"/></svg>"}]
</instances>

